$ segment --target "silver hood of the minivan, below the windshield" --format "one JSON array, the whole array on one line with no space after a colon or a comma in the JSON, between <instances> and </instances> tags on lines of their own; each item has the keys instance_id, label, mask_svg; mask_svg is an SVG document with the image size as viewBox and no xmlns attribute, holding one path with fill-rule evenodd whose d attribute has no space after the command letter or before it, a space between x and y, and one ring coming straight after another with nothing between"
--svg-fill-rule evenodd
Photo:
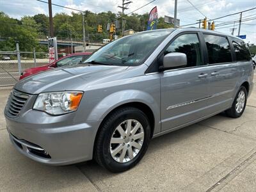
<instances>
[{"instance_id":1,"label":"silver hood of the minivan, below the windshield","mask_svg":"<svg viewBox=\"0 0 256 192\"><path fill-rule=\"evenodd\" d=\"M76 67L56 68L22 79L15 84L14 88L30 94L77 90L81 88L81 84L85 88L87 83L127 68L112 65L76 65Z\"/></svg>"}]
</instances>

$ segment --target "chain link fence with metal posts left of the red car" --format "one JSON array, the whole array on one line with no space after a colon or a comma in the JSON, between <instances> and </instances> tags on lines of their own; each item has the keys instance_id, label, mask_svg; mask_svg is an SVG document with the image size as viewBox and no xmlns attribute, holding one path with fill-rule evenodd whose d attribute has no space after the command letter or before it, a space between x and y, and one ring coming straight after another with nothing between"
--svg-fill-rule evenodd
<instances>
[{"instance_id":1,"label":"chain link fence with metal posts left of the red car","mask_svg":"<svg viewBox=\"0 0 256 192\"><path fill-rule=\"evenodd\" d=\"M13 86L22 71L48 63L47 52L22 52L19 45L15 51L0 51L0 86Z\"/></svg>"}]
</instances>

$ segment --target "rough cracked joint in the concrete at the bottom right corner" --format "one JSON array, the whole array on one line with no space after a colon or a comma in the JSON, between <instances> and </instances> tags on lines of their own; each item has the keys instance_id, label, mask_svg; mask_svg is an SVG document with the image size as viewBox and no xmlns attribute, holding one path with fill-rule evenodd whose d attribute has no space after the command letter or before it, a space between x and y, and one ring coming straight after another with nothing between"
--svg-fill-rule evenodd
<instances>
[{"instance_id":1,"label":"rough cracked joint in the concrete at the bottom right corner","mask_svg":"<svg viewBox=\"0 0 256 192\"><path fill-rule=\"evenodd\" d=\"M206 192L212 191L212 189L220 186L221 184L223 184L220 188L222 189L224 186L226 186L228 184L228 182L224 182L225 180L227 180L229 177L231 177L232 175L235 175L232 179L234 179L239 173L241 173L247 166L249 166L250 164L253 163L254 160L253 157L256 157L256 152L253 152L253 154L246 158L242 163L240 163L239 165L237 165L234 169L232 169L229 173L227 173L227 175L225 175L224 177L222 177L220 180L218 180L218 182L216 182L213 186L211 186L211 188L207 189ZM252 160L252 162L250 162L250 160ZM236 173L238 172L238 173ZM232 180L231 179L231 180Z\"/></svg>"}]
</instances>

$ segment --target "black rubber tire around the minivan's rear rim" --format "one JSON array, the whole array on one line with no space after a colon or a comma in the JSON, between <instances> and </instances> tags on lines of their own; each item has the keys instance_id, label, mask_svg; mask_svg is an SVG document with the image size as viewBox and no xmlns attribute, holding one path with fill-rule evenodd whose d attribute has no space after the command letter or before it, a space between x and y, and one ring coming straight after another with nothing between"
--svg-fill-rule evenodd
<instances>
[{"instance_id":1,"label":"black rubber tire around the minivan's rear rim","mask_svg":"<svg viewBox=\"0 0 256 192\"><path fill-rule=\"evenodd\" d=\"M243 104L243 106L241 106L241 108L239 110L237 110L236 105L238 105L237 102L239 100L239 94L241 94L241 93L244 94L244 104ZM227 111L225 111L227 116L230 116L232 118L238 118L244 113L244 109L246 107L246 102L247 102L247 95L248 95L248 93L247 93L246 88L244 86L241 86L239 88L239 91L236 94L236 97L234 99L232 107L230 109L227 109Z\"/></svg>"}]
</instances>

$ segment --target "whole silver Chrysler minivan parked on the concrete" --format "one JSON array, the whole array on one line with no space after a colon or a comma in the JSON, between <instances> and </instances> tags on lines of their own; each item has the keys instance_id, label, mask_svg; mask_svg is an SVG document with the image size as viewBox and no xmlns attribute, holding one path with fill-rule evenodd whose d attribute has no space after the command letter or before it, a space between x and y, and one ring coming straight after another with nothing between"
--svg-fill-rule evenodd
<instances>
[{"instance_id":1,"label":"whole silver Chrysler minivan parked on the concrete","mask_svg":"<svg viewBox=\"0 0 256 192\"><path fill-rule=\"evenodd\" d=\"M222 111L241 116L252 88L253 63L240 38L159 29L115 40L81 65L22 79L4 115L15 148L35 161L94 158L122 172L151 138Z\"/></svg>"}]
</instances>

